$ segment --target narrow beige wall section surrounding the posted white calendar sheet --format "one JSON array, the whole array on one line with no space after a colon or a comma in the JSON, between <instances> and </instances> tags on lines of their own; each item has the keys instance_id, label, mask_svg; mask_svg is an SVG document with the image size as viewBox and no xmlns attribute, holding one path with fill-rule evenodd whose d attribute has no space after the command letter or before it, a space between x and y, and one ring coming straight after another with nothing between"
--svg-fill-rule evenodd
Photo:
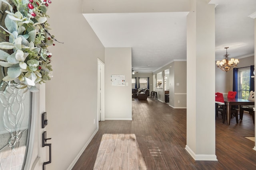
<instances>
[{"instance_id":1,"label":"narrow beige wall section surrounding the posted white calendar sheet","mask_svg":"<svg viewBox=\"0 0 256 170\"><path fill-rule=\"evenodd\" d=\"M124 64L125 63L125 64ZM132 48L105 49L105 119L132 120ZM125 76L125 86L112 86L111 75Z\"/></svg>"}]
</instances>

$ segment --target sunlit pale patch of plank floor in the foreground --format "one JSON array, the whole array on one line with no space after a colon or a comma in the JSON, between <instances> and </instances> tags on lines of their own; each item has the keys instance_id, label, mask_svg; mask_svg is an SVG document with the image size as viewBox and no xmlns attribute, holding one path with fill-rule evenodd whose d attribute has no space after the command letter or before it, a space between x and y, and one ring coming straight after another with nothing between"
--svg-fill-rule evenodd
<instances>
[{"instance_id":1,"label":"sunlit pale patch of plank floor in the foreground","mask_svg":"<svg viewBox=\"0 0 256 170\"><path fill-rule=\"evenodd\" d=\"M144 155L143 149L138 146L135 134L104 134L94 169L146 170Z\"/></svg>"}]
</instances>

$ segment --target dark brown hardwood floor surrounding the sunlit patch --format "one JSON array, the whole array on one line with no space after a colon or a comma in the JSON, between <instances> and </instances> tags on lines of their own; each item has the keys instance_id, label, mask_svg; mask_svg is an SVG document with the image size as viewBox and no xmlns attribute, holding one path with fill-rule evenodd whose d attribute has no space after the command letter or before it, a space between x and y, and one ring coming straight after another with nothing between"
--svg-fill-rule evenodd
<instances>
[{"instance_id":1,"label":"dark brown hardwood floor surrounding the sunlit patch","mask_svg":"<svg viewBox=\"0 0 256 170\"><path fill-rule=\"evenodd\" d=\"M242 121L230 125L216 119L216 156L218 161L195 161L185 150L186 109L173 109L162 102L132 101L132 121L101 121L99 130L80 156L73 170L100 167L96 157L104 134L135 134L148 170L254 170L254 142L244 136L254 136L252 117L244 113ZM110 160L111 161L111 160ZM105 170L104 168L102 168ZM109 168L111 169L111 168ZM115 168L112 168L115 170ZM121 166L116 169L129 169Z\"/></svg>"}]
</instances>

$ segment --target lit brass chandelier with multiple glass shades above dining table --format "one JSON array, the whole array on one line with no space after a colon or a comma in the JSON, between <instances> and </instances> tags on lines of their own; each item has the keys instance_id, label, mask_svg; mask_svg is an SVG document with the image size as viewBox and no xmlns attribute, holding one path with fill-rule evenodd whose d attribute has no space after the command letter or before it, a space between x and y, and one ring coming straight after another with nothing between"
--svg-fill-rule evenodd
<instances>
[{"instance_id":1,"label":"lit brass chandelier with multiple glass shades above dining table","mask_svg":"<svg viewBox=\"0 0 256 170\"><path fill-rule=\"evenodd\" d=\"M225 47L226 49L226 54L223 55L223 60L222 61L217 61L217 67L220 68L222 71L226 71L228 72L229 70L231 70L232 68L236 67L237 63L239 63L238 59L230 59L229 57L230 54L228 54L228 47Z\"/></svg>"}]
</instances>

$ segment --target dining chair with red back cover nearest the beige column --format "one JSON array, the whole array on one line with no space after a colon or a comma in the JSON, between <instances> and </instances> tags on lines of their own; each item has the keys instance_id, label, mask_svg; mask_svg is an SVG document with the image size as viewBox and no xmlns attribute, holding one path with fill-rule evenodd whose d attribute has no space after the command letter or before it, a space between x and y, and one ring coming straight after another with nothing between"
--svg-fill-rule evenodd
<instances>
[{"instance_id":1,"label":"dining chair with red back cover nearest the beige column","mask_svg":"<svg viewBox=\"0 0 256 170\"><path fill-rule=\"evenodd\" d=\"M224 102L222 93L215 93L215 119L218 116L218 112L222 115L222 123L225 123L226 115L227 115L227 107ZM231 114L236 117L236 123L238 123L238 110L231 108Z\"/></svg>"}]
</instances>

